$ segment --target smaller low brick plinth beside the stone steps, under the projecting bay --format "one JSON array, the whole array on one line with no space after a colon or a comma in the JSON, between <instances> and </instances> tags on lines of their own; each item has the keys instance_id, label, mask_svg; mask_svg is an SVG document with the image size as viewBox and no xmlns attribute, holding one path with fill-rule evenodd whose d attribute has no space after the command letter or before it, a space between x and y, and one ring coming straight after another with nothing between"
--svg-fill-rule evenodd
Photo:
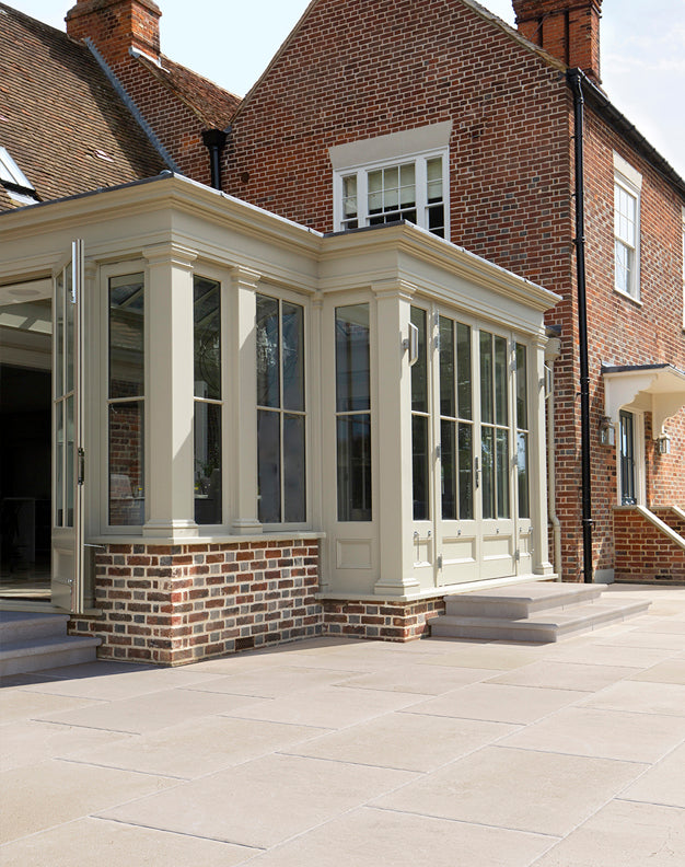
<instances>
[{"instance_id":1,"label":"smaller low brick plinth beside the stone steps, under the projecting bay","mask_svg":"<svg viewBox=\"0 0 685 867\"><path fill-rule=\"evenodd\" d=\"M444 614L444 598L416 602L378 602L325 599L324 635L409 641L430 631L430 620Z\"/></svg>"}]
</instances>

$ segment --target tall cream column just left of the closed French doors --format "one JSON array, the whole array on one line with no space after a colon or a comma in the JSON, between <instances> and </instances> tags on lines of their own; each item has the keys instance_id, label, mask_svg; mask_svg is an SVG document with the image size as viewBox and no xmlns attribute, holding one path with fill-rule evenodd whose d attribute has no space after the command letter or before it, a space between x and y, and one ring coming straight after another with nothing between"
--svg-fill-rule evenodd
<instances>
[{"instance_id":1,"label":"tall cream column just left of the closed French doors","mask_svg":"<svg viewBox=\"0 0 685 867\"><path fill-rule=\"evenodd\" d=\"M419 589L411 537L411 369L403 339L409 335L415 287L403 280L374 284L376 298L378 396L375 401L381 577L379 596Z\"/></svg>"}]
</instances>

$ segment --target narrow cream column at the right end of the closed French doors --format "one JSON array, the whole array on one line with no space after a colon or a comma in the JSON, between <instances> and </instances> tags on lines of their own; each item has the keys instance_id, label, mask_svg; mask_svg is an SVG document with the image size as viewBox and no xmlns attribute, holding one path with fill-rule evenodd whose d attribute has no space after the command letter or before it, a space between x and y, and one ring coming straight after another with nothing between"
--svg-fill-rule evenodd
<instances>
[{"instance_id":1,"label":"narrow cream column at the right end of the closed French doors","mask_svg":"<svg viewBox=\"0 0 685 867\"><path fill-rule=\"evenodd\" d=\"M547 534L547 449L545 415L545 346L538 337L531 345L529 393L535 400L531 414L531 524L533 527L533 573L552 575Z\"/></svg>"}]
</instances>

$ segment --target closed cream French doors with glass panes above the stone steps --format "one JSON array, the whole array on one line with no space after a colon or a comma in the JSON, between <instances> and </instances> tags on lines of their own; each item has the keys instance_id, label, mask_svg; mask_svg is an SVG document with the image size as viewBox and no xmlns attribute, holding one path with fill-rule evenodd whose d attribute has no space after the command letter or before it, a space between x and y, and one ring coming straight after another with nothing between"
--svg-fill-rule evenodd
<instances>
[{"instance_id":1,"label":"closed cream French doors with glass panes above the stone steps","mask_svg":"<svg viewBox=\"0 0 685 867\"><path fill-rule=\"evenodd\" d=\"M415 568L437 585L531 571L526 347L446 309L411 319Z\"/></svg>"}]
</instances>

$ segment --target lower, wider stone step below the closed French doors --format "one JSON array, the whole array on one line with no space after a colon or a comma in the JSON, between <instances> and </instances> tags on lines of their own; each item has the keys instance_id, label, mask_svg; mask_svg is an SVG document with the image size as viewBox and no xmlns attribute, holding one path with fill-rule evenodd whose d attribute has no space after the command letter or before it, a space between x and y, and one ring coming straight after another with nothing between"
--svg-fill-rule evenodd
<instances>
[{"instance_id":1,"label":"lower, wider stone step below the closed French doors","mask_svg":"<svg viewBox=\"0 0 685 867\"><path fill-rule=\"evenodd\" d=\"M443 638L480 638L491 641L557 641L643 614L649 602L592 602L532 617L468 617L442 615L431 621L431 635Z\"/></svg>"}]
</instances>

